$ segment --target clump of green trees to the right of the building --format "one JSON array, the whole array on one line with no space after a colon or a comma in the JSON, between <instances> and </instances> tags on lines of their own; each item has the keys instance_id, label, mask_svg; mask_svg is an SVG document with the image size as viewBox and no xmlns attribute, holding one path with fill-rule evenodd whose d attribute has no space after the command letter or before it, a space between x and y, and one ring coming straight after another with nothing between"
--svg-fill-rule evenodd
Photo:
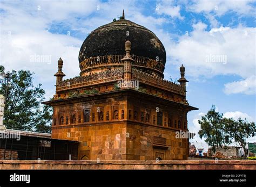
<instances>
[{"instance_id":1,"label":"clump of green trees to the right of the building","mask_svg":"<svg viewBox=\"0 0 256 187\"><path fill-rule=\"evenodd\" d=\"M223 114L217 112L215 106L212 105L212 108L198 120L198 123L201 126L198 132L200 138L206 138L205 141L212 146L213 152L216 147L225 147L234 140L244 148L244 157L247 159L246 139L256 133L254 122L248 123L246 119L242 120L241 118L238 120L223 118Z\"/></svg>"}]
</instances>

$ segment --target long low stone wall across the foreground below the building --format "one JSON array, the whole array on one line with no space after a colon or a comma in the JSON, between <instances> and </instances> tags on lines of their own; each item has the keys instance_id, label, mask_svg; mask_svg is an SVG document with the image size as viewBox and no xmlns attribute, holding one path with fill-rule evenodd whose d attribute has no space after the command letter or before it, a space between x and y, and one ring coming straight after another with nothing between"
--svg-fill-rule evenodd
<instances>
[{"instance_id":1,"label":"long low stone wall across the foreground below the building","mask_svg":"<svg viewBox=\"0 0 256 187\"><path fill-rule=\"evenodd\" d=\"M252 160L104 160L104 161L50 161L50 160L0 160L0 169L182 169L182 170L256 170L256 161Z\"/></svg>"}]
</instances>

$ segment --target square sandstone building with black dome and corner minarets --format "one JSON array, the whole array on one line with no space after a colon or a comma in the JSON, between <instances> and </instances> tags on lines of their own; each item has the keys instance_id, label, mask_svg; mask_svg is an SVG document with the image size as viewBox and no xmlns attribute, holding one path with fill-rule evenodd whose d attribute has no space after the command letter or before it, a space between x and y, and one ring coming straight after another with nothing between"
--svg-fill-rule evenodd
<instances>
[{"instance_id":1,"label":"square sandstone building with black dome and corner minarets","mask_svg":"<svg viewBox=\"0 0 256 187\"><path fill-rule=\"evenodd\" d=\"M98 27L79 52L80 76L63 80L58 61L52 138L79 141L78 160L186 160L185 67L164 80L166 52L157 36L123 16Z\"/></svg>"}]
</instances>

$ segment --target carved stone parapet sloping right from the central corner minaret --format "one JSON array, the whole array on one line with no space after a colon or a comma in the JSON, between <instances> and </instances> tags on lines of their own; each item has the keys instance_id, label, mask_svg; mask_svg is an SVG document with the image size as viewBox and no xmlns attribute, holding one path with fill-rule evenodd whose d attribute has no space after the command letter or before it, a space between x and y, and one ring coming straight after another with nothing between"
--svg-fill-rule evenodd
<instances>
[{"instance_id":1,"label":"carved stone parapet sloping right from the central corner minaret","mask_svg":"<svg viewBox=\"0 0 256 187\"><path fill-rule=\"evenodd\" d=\"M147 74L138 69L132 69L132 78L138 80L139 82L144 82L149 85L153 85L154 87L166 89L172 92L179 93L181 95L185 95L185 90L181 85L175 84L170 81L166 81L163 78L159 78L157 76L153 76Z\"/></svg>"}]
</instances>

